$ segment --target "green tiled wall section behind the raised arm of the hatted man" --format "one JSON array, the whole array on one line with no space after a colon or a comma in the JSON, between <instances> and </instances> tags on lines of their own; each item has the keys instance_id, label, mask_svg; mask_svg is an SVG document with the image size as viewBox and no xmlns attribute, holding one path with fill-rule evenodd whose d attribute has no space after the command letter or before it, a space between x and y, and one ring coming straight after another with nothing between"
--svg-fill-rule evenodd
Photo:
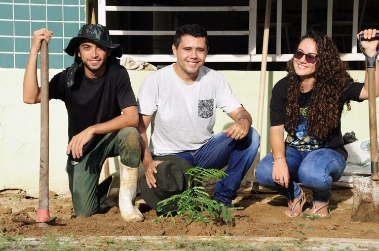
<instances>
[{"instance_id":1,"label":"green tiled wall section behind the raised arm of the hatted man","mask_svg":"<svg viewBox=\"0 0 379 251\"><path fill-rule=\"evenodd\" d=\"M85 24L85 5L86 0L0 0L0 68L25 68L33 31L44 27L54 32L49 68L71 65L63 50Z\"/></svg>"}]
</instances>

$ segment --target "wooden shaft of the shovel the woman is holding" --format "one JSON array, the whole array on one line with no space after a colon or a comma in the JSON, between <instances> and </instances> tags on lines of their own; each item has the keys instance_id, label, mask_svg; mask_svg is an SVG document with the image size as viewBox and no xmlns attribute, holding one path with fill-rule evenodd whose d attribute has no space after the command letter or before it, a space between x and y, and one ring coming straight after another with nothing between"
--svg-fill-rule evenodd
<instances>
[{"instance_id":1,"label":"wooden shaft of the shovel the woman is holding","mask_svg":"<svg viewBox=\"0 0 379 251\"><path fill-rule=\"evenodd\" d=\"M375 68L367 68L368 78L368 113L370 120L371 179L379 180L377 163L377 127L376 127L376 91Z\"/></svg>"}]
</instances>

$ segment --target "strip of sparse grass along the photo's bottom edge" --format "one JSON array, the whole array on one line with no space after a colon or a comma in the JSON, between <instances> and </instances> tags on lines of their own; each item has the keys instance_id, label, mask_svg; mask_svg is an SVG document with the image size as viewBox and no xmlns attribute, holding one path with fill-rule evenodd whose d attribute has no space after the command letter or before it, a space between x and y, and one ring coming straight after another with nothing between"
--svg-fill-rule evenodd
<instances>
[{"instance_id":1,"label":"strip of sparse grass along the photo's bottom edge","mask_svg":"<svg viewBox=\"0 0 379 251\"><path fill-rule=\"evenodd\" d=\"M275 249L272 248L275 246ZM0 250L17 251L98 251L98 250L281 250L277 245L255 247L253 243L227 240L191 240L180 238L173 241L148 241L145 239L121 240L109 237L75 238L8 238L0 244Z\"/></svg>"}]
</instances>

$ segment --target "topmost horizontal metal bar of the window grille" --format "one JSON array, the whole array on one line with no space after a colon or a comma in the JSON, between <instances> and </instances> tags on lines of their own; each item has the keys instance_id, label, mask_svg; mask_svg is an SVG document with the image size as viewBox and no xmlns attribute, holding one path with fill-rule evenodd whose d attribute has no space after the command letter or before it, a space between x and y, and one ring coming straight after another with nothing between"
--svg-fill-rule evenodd
<instances>
[{"instance_id":1,"label":"topmost horizontal metal bar of the window grille","mask_svg":"<svg viewBox=\"0 0 379 251\"><path fill-rule=\"evenodd\" d=\"M101 0L100 0L101 1ZM199 11L250 11L248 6L106 6L105 11L164 11L164 12L199 12Z\"/></svg>"}]
</instances>

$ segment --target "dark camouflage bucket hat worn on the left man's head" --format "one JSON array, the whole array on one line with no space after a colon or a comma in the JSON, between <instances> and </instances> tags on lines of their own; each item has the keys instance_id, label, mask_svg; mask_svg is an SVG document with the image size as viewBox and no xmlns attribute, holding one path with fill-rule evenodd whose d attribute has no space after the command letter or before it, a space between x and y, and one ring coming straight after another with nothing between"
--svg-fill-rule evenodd
<instances>
[{"instance_id":1,"label":"dark camouflage bucket hat worn on the left man's head","mask_svg":"<svg viewBox=\"0 0 379 251\"><path fill-rule=\"evenodd\" d=\"M122 45L112 44L112 41L109 37L108 29L105 26L102 26L101 24L83 25L83 27L80 28L78 32L78 36L71 38L67 48L64 49L64 51L68 55L73 56L75 54L75 51L78 49L78 44L80 40L82 40L83 38L91 39L99 45L113 49L111 56L116 56L120 58L123 55Z\"/></svg>"}]
</instances>

